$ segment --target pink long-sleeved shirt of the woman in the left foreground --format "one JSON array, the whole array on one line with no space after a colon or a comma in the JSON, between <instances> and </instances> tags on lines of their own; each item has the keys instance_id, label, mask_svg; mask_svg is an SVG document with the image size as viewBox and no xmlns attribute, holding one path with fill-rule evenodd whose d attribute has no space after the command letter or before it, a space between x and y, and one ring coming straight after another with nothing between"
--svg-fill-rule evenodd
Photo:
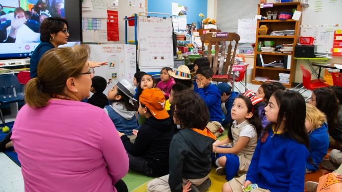
<instances>
[{"instance_id":1,"label":"pink long-sleeved shirt of the woman in the left foreground","mask_svg":"<svg viewBox=\"0 0 342 192\"><path fill-rule=\"evenodd\" d=\"M112 120L85 102L50 100L38 109L25 104L11 139L25 192L116 192L113 185L128 171Z\"/></svg>"}]
</instances>

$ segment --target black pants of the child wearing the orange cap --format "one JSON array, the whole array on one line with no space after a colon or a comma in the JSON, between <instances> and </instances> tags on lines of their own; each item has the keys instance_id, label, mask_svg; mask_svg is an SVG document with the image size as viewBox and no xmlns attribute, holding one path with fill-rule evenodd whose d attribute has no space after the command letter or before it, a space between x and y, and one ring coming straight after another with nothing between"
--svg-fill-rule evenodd
<instances>
[{"instance_id":1,"label":"black pants of the child wearing the orange cap","mask_svg":"<svg viewBox=\"0 0 342 192\"><path fill-rule=\"evenodd\" d=\"M153 176L153 170L147 160L142 157L135 157L127 152L129 158L129 169L137 171L147 176Z\"/></svg>"}]
</instances>

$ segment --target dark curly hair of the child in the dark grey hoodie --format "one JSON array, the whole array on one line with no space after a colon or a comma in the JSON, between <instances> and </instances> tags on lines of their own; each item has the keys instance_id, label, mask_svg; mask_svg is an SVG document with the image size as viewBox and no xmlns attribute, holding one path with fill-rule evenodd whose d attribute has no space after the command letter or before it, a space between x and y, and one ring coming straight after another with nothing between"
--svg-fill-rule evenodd
<instances>
[{"instance_id":1,"label":"dark curly hair of the child in the dark grey hoodie","mask_svg":"<svg viewBox=\"0 0 342 192\"><path fill-rule=\"evenodd\" d=\"M179 120L181 128L204 130L209 122L209 110L201 96L184 90L174 96L173 103L173 116Z\"/></svg>"}]
</instances>

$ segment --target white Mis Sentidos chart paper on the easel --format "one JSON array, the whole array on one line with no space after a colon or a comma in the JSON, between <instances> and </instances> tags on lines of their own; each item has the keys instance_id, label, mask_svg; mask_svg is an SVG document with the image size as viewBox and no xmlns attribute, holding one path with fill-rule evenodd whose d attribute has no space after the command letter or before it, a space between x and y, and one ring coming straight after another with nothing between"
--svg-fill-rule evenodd
<instances>
[{"instance_id":1,"label":"white Mis Sentidos chart paper on the easel","mask_svg":"<svg viewBox=\"0 0 342 192\"><path fill-rule=\"evenodd\" d=\"M138 16L139 68L173 67L171 18Z\"/></svg>"}]
</instances>

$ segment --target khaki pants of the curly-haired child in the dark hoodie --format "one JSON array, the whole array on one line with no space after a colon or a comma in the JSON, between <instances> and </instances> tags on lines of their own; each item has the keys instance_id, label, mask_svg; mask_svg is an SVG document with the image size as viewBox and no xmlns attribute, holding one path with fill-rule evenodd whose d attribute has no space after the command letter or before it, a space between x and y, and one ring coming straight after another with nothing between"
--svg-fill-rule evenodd
<instances>
[{"instance_id":1,"label":"khaki pants of the curly-haired child in the dark hoodie","mask_svg":"<svg viewBox=\"0 0 342 192\"><path fill-rule=\"evenodd\" d=\"M169 176L170 175L165 175L163 177L159 177L150 181L147 184L147 191L148 192L171 192L170 185L169 185ZM188 181L190 181L195 186L199 186L208 178L209 178L209 174L200 179L184 179L183 178L182 186L185 186Z\"/></svg>"}]
</instances>

